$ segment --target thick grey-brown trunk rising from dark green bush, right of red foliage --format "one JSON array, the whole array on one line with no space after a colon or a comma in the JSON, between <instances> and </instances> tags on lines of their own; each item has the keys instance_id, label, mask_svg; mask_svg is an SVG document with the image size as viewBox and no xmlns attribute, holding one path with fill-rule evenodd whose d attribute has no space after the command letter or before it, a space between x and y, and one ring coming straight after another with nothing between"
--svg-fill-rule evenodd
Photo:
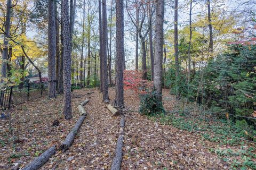
<instances>
[{"instance_id":1,"label":"thick grey-brown trunk rising from dark green bush, right of red foliage","mask_svg":"<svg viewBox=\"0 0 256 170\"><path fill-rule=\"evenodd\" d=\"M163 45L164 45L164 0L156 0L156 34L154 86L158 101L162 102Z\"/></svg>"}]
</instances>

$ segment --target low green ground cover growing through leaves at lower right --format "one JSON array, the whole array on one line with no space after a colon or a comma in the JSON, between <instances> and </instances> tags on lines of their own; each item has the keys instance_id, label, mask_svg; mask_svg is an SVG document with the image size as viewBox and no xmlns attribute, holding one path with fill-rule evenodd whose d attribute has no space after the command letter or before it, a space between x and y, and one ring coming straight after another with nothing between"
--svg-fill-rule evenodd
<instances>
[{"instance_id":1,"label":"low green ground cover growing through leaves at lower right","mask_svg":"<svg viewBox=\"0 0 256 170\"><path fill-rule=\"evenodd\" d=\"M256 148L250 146L245 140L256 142L256 130L245 120L217 119L212 116L193 117L186 112L169 112L150 117L164 125L200 133L203 140L217 143L216 148L210 148L230 164L231 169L256 169Z\"/></svg>"}]
</instances>

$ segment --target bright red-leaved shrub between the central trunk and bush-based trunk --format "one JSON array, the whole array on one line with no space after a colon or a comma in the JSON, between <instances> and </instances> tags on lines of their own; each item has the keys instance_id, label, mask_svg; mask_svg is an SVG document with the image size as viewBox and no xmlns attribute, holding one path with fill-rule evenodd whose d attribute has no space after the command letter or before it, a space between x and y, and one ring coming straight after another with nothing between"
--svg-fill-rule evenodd
<instances>
[{"instance_id":1,"label":"bright red-leaved shrub between the central trunk and bush-based trunk","mask_svg":"<svg viewBox=\"0 0 256 170\"><path fill-rule=\"evenodd\" d=\"M124 71L124 89L131 89L138 95L146 94L153 89L153 81L143 80L143 72L135 70Z\"/></svg>"}]
</instances>

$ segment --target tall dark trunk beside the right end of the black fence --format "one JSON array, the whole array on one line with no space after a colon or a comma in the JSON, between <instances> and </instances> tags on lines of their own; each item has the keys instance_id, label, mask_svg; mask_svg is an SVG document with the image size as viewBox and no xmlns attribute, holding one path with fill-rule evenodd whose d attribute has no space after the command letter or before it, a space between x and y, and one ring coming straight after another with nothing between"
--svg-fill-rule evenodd
<instances>
[{"instance_id":1,"label":"tall dark trunk beside the right end of the black fence","mask_svg":"<svg viewBox=\"0 0 256 170\"><path fill-rule=\"evenodd\" d=\"M54 1L48 3L48 96L56 97L56 71L55 71L55 55L56 55L56 30L55 30L55 12Z\"/></svg>"}]
</instances>

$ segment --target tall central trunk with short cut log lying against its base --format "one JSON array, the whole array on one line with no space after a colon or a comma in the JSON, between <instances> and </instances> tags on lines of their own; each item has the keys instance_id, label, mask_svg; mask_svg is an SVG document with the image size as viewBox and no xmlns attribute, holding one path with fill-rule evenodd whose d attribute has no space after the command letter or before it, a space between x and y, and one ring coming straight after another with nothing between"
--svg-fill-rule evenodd
<instances>
[{"instance_id":1,"label":"tall central trunk with short cut log lying against its base","mask_svg":"<svg viewBox=\"0 0 256 170\"><path fill-rule=\"evenodd\" d=\"M116 96L115 107L124 107L124 2L116 0Z\"/></svg>"}]
</instances>

